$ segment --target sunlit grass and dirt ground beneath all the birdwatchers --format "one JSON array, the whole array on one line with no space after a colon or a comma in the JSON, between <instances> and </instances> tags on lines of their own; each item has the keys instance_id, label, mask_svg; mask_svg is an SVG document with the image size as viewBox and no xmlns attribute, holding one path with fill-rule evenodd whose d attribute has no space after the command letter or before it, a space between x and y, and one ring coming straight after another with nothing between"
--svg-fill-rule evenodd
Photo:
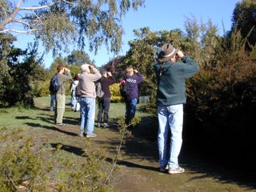
<instances>
[{"instance_id":1,"label":"sunlit grass and dirt ground beneath all the birdwatchers","mask_svg":"<svg viewBox=\"0 0 256 192\"><path fill-rule=\"evenodd\" d=\"M50 98L35 98L35 103L36 108L30 110L18 107L0 109L0 127L10 132L21 128L24 136L22 139L34 138L33 145L38 149L56 149L61 143L60 157L78 164L85 162L85 157L82 156L84 150L100 149L106 154L106 166L110 166L120 142L117 120L125 113L123 103L110 104L110 127L95 127L98 137L90 138L90 145L86 142L88 139L78 137L79 113L70 110L70 97L66 98L63 121L66 126L60 129L54 126L54 112L51 112L49 107ZM194 151L186 146L180 155L181 166L185 167L186 172L177 175L160 173L156 119L154 115L139 110L140 105L142 104L138 105L136 116L141 117L142 121L133 131L132 137L126 138L126 143L122 146L122 160L118 162L120 169L113 182L114 191L256 191L254 179L245 182L241 172L227 165L227 162L232 160L218 163L216 159L199 159L198 154L194 154ZM96 114L97 111L96 109ZM5 147L6 143L2 143L0 149L4 150Z\"/></svg>"}]
</instances>

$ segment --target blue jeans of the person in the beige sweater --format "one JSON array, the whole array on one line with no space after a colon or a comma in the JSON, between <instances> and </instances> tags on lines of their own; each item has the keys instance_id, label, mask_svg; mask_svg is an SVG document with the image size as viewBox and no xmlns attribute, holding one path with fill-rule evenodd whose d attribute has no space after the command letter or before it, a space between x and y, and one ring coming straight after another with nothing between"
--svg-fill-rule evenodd
<instances>
[{"instance_id":1,"label":"blue jeans of the person in the beige sweater","mask_svg":"<svg viewBox=\"0 0 256 192\"><path fill-rule=\"evenodd\" d=\"M80 114L80 133L92 134L94 132L95 98L80 98Z\"/></svg>"}]
</instances>

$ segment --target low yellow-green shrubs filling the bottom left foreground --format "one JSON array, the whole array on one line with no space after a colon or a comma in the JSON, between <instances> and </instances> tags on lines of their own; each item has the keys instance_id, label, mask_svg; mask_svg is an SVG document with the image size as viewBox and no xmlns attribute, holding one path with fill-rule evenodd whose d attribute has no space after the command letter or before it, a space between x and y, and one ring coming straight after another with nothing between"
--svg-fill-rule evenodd
<instances>
[{"instance_id":1,"label":"low yellow-green shrubs filling the bottom left foreground","mask_svg":"<svg viewBox=\"0 0 256 192\"><path fill-rule=\"evenodd\" d=\"M110 166L101 150L90 151L85 142L82 162L63 156L65 145L38 146L22 130L0 129L0 190L10 191L112 191Z\"/></svg>"}]
</instances>

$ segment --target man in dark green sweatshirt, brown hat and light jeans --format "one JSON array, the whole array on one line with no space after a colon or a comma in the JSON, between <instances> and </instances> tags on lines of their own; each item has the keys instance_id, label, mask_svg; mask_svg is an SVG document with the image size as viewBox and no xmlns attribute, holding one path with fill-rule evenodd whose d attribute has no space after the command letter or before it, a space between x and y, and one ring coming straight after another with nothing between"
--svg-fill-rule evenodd
<instances>
[{"instance_id":1,"label":"man in dark green sweatshirt, brown hat and light jeans","mask_svg":"<svg viewBox=\"0 0 256 192\"><path fill-rule=\"evenodd\" d=\"M181 61L177 61L180 58ZM158 80L158 153L160 171L181 174L178 165L182 148L183 104L186 103L186 78L192 77L199 66L170 43L162 46L154 71ZM168 138L170 135L170 138ZM167 149L169 150L167 152Z\"/></svg>"}]
</instances>

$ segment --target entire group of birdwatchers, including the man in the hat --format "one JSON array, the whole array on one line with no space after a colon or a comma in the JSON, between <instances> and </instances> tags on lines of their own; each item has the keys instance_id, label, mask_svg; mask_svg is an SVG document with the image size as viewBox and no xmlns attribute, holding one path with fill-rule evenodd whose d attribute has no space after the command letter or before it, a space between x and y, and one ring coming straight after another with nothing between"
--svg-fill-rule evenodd
<instances>
[{"instance_id":1,"label":"entire group of birdwatchers, including the man in the hat","mask_svg":"<svg viewBox=\"0 0 256 192\"><path fill-rule=\"evenodd\" d=\"M157 78L157 113L158 113L158 155L161 172L181 174L185 170L178 164L178 155L182 148L183 105L186 103L186 78L192 77L199 70L199 66L190 57L185 56L181 50L175 49L170 43L161 47L154 64ZM93 66L81 66L82 74L78 75L78 86L82 92L80 97L81 126L80 136L86 134L87 138L96 137L94 134L95 112L95 84L102 83L105 97L98 102L97 126L108 125L108 111L110 109L109 86L115 82L110 72L102 74ZM92 73L91 73L91 72ZM63 73L66 72L64 75ZM58 66L59 83L71 79L70 70ZM138 84L143 81L143 76L133 67L126 68L123 80L131 87L126 98L126 125L129 125L136 112L138 103ZM61 86L62 87L62 86ZM63 95L64 93L64 95ZM56 94L57 113L56 123L63 126L62 117L65 110L65 87ZM103 117L102 117L102 114Z\"/></svg>"}]
</instances>

